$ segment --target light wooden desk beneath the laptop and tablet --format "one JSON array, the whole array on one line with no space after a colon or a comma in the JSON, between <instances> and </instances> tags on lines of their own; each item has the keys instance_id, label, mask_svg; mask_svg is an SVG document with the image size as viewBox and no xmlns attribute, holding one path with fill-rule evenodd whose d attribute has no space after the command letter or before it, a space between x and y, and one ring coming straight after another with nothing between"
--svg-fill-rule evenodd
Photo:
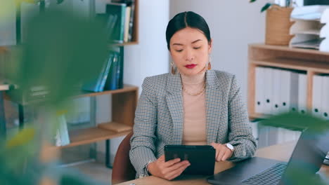
<instances>
[{"instance_id":1,"label":"light wooden desk beneath the laptop and tablet","mask_svg":"<svg viewBox=\"0 0 329 185\"><path fill-rule=\"evenodd\" d=\"M288 162L292 150L295 148L297 142L288 142L285 144L278 144L273 146L268 146L263 149L257 150L255 156L262 157L262 158L271 158L275 160L282 160ZM230 167L233 167L234 164L231 162L219 162L215 165L214 173L217 174L218 172L222 172L227 170ZM329 166L322 165L321 174L329 177ZM208 184L207 183L207 176L182 176L179 179L175 179L173 181L167 181L158 177L144 177L141 179L135 179L132 181L126 181L117 185L129 185L129 184L136 184L136 185L154 185L154 184L164 184L164 185L175 185L175 184Z\"/></svg>"}]
</instances>

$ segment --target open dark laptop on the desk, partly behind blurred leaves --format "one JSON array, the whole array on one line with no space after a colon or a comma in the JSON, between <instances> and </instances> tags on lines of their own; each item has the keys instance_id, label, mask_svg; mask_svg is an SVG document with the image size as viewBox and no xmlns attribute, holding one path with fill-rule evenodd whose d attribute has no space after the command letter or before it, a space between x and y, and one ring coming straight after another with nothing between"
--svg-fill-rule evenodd
<instances>
[{"instance_id":1,"label":"open dark laptop on the desk, partly behind blurred leaves","mask_svg":"<svg viewBox=\"0 0 329 185\"><path fill-rule=\"evenodd\" d=\"M305 130L300 135L288 163L266 158L249 158L236 166L214 174L210 184L294 184L291 174L300 169L316 176L329 151L329 132L314 134Z\"/></svg>"}]
</instances>

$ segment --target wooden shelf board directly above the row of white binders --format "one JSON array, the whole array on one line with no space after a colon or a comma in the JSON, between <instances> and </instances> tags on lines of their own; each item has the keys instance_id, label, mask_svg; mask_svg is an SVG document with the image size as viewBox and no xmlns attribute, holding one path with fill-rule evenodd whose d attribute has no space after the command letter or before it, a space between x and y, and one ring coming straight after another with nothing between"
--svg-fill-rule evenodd
<instances>
[{"instance_id":1,"label":"wooden shelf board directly above the row of white binders","mask_svg":"<svg viewBox=\"0 0 329 185\"><path fill-rule=\"evenodd\" d=\"M289 58L271 58L267 60L250 60L252 64L280 67L285 69L295 69L301 71L318 71L322 73L329 73L329 62L314 62L310 60L294 60Z\"/></svg>"}]
</instances>

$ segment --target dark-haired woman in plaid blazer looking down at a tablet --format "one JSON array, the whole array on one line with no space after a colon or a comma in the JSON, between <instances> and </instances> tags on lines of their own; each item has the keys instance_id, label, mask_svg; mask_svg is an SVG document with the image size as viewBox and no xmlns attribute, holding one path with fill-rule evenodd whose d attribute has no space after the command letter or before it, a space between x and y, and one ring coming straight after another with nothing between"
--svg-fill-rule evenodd
<instances>
[{"instance_id":1,"label":"dark-haired woman in plaid blazer looking down at a tablet","mask_svg":"<svg viewBox=\"0 0 329 185\"><path fill-rule=\"evenodd\" d=\"M174 179L190 165L179 158L165 162L167 144L212 145L217 161L252 156L256 142L236 77L210 70L207 22L191 11L179 13L166 39L172 73L145 78L136 109L130 150L136 177Z\"/></svg>"}]
</instances>

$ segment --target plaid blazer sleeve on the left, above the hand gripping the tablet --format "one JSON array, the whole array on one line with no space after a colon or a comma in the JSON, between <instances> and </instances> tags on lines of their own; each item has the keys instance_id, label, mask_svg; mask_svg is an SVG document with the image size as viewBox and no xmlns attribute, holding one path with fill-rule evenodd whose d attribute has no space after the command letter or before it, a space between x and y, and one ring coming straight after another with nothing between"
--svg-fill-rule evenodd
<instances>
[{"instance_id":1,"label":"plaid blazer sleeve on the left, above the hand gripping the tablet","mask_svg":"<svg viewBox=\"0 0 329 185\"><path fill-rule=\"evenodd\" d=\"M155 157L155 129L157 125L157 107L155 91L151 78L145 78L139 97L134 123L134 135L130 139L129 158L136 170L136 178L148 176L147 165Z\"/></svg>"}]
</instances>

